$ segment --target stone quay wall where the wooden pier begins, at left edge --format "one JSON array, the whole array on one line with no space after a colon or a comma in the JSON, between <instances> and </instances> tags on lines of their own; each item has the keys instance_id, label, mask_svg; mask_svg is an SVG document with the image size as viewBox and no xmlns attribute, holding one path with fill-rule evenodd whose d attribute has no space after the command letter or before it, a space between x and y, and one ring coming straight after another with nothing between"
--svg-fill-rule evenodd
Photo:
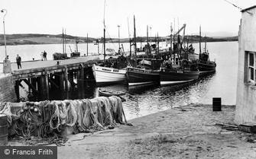
<instances>
[{"instance_id":1,"label":"stone quay wall where the wooden pier begins, at left edge","mask_svg":"<svg viewBox=\"0 0 256 159\"><path fill-rule=\"evenodd\" d=\"M16 102L15 84L12 75L2 75L0 77L0 102Z\"/></svg>"}]
</instances>

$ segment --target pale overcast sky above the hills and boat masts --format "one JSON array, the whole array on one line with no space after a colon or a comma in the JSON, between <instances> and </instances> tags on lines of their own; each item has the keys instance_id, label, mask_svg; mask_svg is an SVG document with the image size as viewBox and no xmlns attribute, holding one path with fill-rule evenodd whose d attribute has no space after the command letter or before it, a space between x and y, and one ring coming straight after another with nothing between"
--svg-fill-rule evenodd
<instances>
[{"instance_id":1,"label":"pale overcast sky above the hills and boat masts","mask_svg":"<svg viewBox=\"0 0 256 159\"><path fill-rule=\"evenodd\" d=\"M133 15L137 36L170 34L170 24L176 30L186 23L186 33L238 33L241 12L224 0L105 0L106 37L128 37L133 33ZM229 0L241 8L256 5L255 0ZM5 17L6 33L59 34L62 28L74 36L102 37L104 0L1 0L8 11ZM2 21L1 14L1 21ZM179 21L178 21L179 19ZM179 23L178 23L179 22ZM179 25L178 25L179 24ZM3 33L2 23L0 33Z\"/></svg>"}]
</instances>

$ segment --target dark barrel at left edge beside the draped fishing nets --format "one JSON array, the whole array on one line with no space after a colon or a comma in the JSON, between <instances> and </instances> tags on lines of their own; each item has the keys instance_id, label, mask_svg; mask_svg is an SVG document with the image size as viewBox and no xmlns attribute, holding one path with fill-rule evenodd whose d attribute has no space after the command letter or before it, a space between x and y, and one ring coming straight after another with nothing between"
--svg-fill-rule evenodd
<instances>
[{"instance_id":1,"label":"dark barrel at left edge beside the draped fishing nets","mask_svg":"<svg viewBox=\"0 0 256 159\"><path fill-rule=\"evenodd\" d=\"M8 143L8 122L5 114L0 114L0 146Z\"/></svg>"}]
</instances>

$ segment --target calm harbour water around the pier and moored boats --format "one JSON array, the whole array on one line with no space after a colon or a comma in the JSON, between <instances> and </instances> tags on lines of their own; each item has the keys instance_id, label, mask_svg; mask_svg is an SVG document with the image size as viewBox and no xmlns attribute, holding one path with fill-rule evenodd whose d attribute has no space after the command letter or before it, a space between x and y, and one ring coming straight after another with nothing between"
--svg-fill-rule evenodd
<instances>
[{"instance_id":1,"label":"calm harbour water around the pier and moored boats","mask_svg":"<svg viewBox=\"0 0 256 159\"><path fill-rule=\"evenodd\" d=\"M66 46L67 52L70 52ZM140 44L138 43L138 46ZM165 43L160 44L165 46ZM193 44L198 52L199 44ZM128 119L155 113L160 110L167 110L172 107L186 105L188 103L212 103L212 97L222 97L222 104L235 104L236 80L238 68L238 42L208 43L210 58L217 63L215 75L203 78L193 84L183 87L127 87L126 85L112 85L109 88L116 91L127 91L133 97L124 103L125 114ZM117 49L117 43L108 43L107 48ZM128 43L124 44L125 51L128 51ZM40 59L40 53L44 50L48 53L48 59L52 59L54 52L62 52L61 44L53 45L24 45L8 46L8 55L11 61L15 61L16 54L22 60ZM86 54L86 43L79 44L79 51ZM4 47L0 47L0 59L4 59ZM89 54L96 54L98 46L89 44ZM99 47L102 52L102 46ZM22 90L22 89L21 89ZM23 90L26 94L26 90ZM97 97L98 92L95 86L86 87L83 91L70 91L62 94L57 99L76 99L81 97Z\"/></svg>"}]
</instances>

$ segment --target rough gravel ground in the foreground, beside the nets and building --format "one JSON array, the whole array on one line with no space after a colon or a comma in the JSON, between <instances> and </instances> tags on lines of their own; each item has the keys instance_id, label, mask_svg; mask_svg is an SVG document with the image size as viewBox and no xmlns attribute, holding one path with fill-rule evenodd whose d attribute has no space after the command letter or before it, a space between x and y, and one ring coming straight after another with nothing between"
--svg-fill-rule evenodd
<instances>
[{"instance_id":1,"label":"rough gravel ground in the foreground, beside the nets and building","mask_svg":"<svg viewBox=\"0 0 256 159\"><path fill-rule=\"evenodd\" d=\"M256 158L256 135L226 130L235 106L190 104L137 119L133 126L68 136L58 158Z\"/></svg>"}]
</instances>

